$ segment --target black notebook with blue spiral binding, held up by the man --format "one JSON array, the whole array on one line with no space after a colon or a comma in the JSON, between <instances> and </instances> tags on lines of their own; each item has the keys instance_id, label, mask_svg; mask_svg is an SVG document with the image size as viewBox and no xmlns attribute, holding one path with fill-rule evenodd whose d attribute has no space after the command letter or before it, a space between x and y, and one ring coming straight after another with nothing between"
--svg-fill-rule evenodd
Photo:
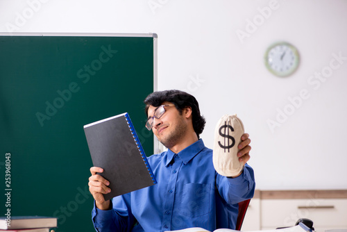
<instances>
[{"instance_id":1,"label":"black notebook with blue spiral binding, held up by the man","mask_svg":"<svg viewBox=\"0 0 347 232\"><path fill-rule=\"evenodd\" d=\"M128 113L83 128L94 167L110 181L105 200L157 183Z\"/></svg>"}]
</instances>

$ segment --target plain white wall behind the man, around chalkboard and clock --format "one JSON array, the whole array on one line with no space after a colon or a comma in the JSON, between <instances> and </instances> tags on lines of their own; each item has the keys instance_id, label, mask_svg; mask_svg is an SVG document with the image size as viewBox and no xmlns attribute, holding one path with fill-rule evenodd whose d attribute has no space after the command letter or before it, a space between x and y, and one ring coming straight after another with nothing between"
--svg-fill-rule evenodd
<instances>
[{"instance_id":1,"label":"plain white wall behind the man, around chalkboard and clock","mask_svg":"<svg viewBox=\"0 0 347 232\"><path fill-rule=\"evenodd\" d=\"M0 0L0 32L158 33L158 90L196 96L208 147L219 117L237 113L251 135L258 189L341 189L347 188L346 10L345 0ZM240 40L237 31L249 31L253 19L259 26ZM264 66L266 48L279 40L301 54L287 78ZM335 69L332 54L343 57ZM307 83L329 70L320 85ZM301 90L307 99L271 131L267 121L290 110L289 98Z\"/></svg>"}]
</instances>

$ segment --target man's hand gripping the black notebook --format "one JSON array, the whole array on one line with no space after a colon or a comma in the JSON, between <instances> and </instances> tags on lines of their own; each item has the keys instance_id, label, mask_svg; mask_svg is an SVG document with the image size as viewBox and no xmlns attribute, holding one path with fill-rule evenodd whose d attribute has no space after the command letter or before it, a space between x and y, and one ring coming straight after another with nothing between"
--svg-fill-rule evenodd
<instances>
[{"instance_id":1,"label":"man's hand gripping the black notebook","mask_svg":"<svg viewBox=\"0 0 347 232\"><path fill-rule=\"evenodd\" d=\"M110 185L110 182L103 178L103 176L100 176L99 174L96 174L96 172L103 172L103 169L101 167L91 167L90 173L92 176L89 178L89 190L90 193L93 195L95 199L96 207L101 210L109 210L110 209L110 200L105 201L105 197L103 197L103 194L107 194L111 192L111 189L107 186Z\"/></svg>"}]
</instances>

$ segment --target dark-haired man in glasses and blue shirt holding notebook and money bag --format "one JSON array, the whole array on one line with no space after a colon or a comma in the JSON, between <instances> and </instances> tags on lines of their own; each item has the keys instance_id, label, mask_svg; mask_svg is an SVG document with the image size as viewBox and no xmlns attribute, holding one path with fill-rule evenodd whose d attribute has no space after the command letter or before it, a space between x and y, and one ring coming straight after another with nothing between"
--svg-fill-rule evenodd
<instances>
[{"instance_id":1,"label":"dark-haired man in glasses and blue shirt holding notebook and money bag","mask_svg":"<svg viewBox=\"0 0 347 232\"><path fill-rule=\"evenodd\" d=\"M237 204L253 197L255 189L253 169L246 164L251 150L248 134L238 145L243 171L221 176L214 170L212 150L199 139L205 119L192 95L179 90L153 92L144 103L146 128L168 148L148 158L158 183L105 201L109 183L96 174L101 168L92 167L89 185L96 231L235 229Z\"/></svg>"}]
</instances>

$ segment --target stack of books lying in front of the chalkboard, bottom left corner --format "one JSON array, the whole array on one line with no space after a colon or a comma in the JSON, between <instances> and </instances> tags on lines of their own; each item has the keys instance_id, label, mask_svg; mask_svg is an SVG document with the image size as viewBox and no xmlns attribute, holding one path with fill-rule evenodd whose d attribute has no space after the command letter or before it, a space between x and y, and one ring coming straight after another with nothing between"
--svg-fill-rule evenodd
<instances>
[{"instance_id":1,"label":"stack of books lying in front of the chalkboard, bottom left corner","mask_svg":"<svg viewBox=\"0 0 347 232\"><path fill-rule=\"evenodd\" d=\"M23 216L0 217L0 231L6 232L51 232L57 227L56 217Z\"/></svg>"}]
</instances>

